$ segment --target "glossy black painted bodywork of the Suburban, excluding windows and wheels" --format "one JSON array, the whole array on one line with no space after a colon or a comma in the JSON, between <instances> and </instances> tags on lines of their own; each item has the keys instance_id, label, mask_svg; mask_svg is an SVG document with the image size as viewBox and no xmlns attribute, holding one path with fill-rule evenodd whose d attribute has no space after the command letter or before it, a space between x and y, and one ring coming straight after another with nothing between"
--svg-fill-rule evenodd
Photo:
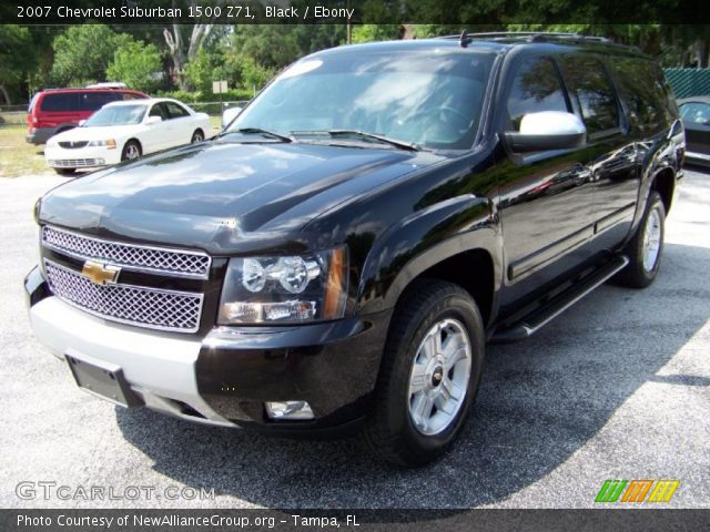
<instances>
[{"instance_id":1,"label":"glossy black painted bodywork of the Suburban, excluding windows and wheels","mask_svg":"<svg viewBox=\"0 0 710 532\"><path fill-rule=\"evenodd\" d=\"M458 43L381 45L395 53L407 45ZM505 98L520 57L555 60L587 53L604 60L608 53L631 52L602 44L480 47L498 59L478 140L468 151L216 140L60 186L44 196L40 222L211 254L215 260L207 280L170 280L207 294L196 364L204 399L243 426L275 428L278 423L264 416L263 401L300 399L312 403L318 420L294 428L346 423L367 412L394 307L412 279L462 253L484 254L493 270L486 287L491 294L486 329L491 334L571 273L618 250L640 221L653 178L665 171L680 175L681 140L670 125L642 130L622 99L619 129L582 147L520 155L503 141L503 105L497 102ZM470 48L475 52L477 45ZM574 111L580 112L578 106ZM300 254L343 244L351 262L343 320L215 327L229 257ZM166 283L134 275L151 286ZM27 286L31 293L41 289L37 275Z\"/></svg>"}]
</instances>

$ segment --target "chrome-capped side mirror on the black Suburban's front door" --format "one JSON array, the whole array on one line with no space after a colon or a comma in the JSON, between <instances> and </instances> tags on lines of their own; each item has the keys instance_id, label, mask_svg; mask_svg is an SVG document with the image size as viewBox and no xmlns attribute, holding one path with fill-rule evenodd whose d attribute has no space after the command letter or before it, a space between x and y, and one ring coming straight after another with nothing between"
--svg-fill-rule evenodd
<instances>
[{"instance_id":1,"label":"chrome-capped side mirror on the black Suburban's front door","mask_svg":"<svg viewBox=\"0 0 710 532\"><path fill-rule=\"evenodd\" d=\"M575 114L540 111L523 116L519 132L506 132L505 140L514 152L541 152L584 146L587 129Z\"/></svg>"}]
</instances>

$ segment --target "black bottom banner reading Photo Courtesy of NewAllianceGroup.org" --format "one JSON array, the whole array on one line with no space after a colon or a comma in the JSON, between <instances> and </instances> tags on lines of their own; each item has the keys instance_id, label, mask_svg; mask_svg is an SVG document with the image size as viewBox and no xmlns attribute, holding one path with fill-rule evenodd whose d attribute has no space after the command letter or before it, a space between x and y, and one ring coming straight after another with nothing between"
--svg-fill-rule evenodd
<instances>
[{"instance_id":1,"label":"black bottom banner reading Photo Courtesy of NewAllianceGroup.org","mask_svg":"<svg viewBox=\"0 0 710 532\"><path fill-rule=\"evenodd\" d=\"M709 528L710 510L0 510L2 532L696 532Z\"/></svg>"}]
</instances>

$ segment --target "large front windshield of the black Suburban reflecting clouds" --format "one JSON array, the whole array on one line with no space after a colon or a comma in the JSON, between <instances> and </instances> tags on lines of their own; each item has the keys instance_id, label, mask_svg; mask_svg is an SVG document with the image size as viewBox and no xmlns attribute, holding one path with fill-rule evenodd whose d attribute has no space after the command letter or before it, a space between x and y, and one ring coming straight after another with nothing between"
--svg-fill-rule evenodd
<instances>
[{"instance_id":1,"label":"large front windshield of the black Suburban reflecting clouds","mask_svg":"<svg viewBox=\"0 0 710 532\"><path fill-rule=\"evenodd\" d=\"M369 133L425 149L469 149L493 60L491 53L471 50L383 52L366 47L304 59L283 72L226 133L261 129L296 140L323 135L333 143L345 137L368 142L357 133ZM352 137L344 134L348 132Z\"/></svg>"}]
</instances>

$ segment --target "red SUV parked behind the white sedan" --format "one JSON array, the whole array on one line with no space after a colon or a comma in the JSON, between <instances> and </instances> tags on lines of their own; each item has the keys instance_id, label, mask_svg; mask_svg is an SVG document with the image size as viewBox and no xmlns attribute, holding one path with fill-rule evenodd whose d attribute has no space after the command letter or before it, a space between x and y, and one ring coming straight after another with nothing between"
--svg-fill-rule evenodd
<instances>
[{"instance_id":1,"label":"red SUV parked behind the white sedan","mask_svg":"<svg viewBox=\"0 0 710 532\"><path fill-rule=\"evenodd\" d=\"M109 102L143 98L149 96L128 89L48 89L38 92L28 109L24 140L44 144L50 136L75 127Z\"/></svg>"}]
</instances>

